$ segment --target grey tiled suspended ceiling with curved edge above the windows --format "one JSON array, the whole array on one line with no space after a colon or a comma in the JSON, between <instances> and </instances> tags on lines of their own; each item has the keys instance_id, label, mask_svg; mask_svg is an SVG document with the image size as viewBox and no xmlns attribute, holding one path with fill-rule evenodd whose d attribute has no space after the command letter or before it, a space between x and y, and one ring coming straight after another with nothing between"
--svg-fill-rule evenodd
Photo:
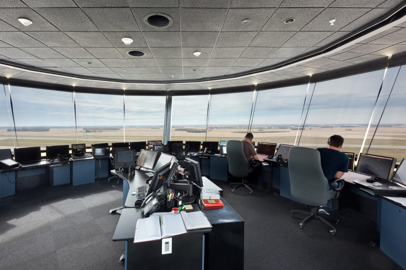
<instances>
[{"instance_id":1,"label":"grey tiled suspended ceiling with curved edge above the windows","mask_svg":"<svg viewBox=\"0 0 406 270\"><path fill-rule=\"evenodd\" d=\"M3 0L0 76L133 90L229 88L306 77L406 51L406 23L367 33L402 2ZM169 15L173 24L147 26L143 18L153 12ZM24 26L19 18L33 24ZM242 24L246 18L251 21ZM285 24L289 18L295 21ZM362 30L356 42L327 49ZM125 45L123 37L134 42ZM130 49L145 56L129 56ZM281 63L289 64L269 70Z\"/></svg>"}]
</instances>

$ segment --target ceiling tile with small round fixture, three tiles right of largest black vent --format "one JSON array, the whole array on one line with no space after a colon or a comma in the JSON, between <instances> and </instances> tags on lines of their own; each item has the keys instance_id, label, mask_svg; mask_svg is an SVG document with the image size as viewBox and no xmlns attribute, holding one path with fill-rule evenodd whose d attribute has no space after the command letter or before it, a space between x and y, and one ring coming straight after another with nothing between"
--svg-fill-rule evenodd
<instances>
[{"instance_id":1,"label":"ceiling tile with small round fixture, three tiles right of largest black vent","mask_svg":"<svg viewBox=\"0 0 406 270\"><path fill-rule=\"evenodd\" d=\"M262 31L299 31L323 9L316 8L279 8L263 26ZM286 19L294 18L291 24L285 24Z\"/></svg>"}]
</instances>

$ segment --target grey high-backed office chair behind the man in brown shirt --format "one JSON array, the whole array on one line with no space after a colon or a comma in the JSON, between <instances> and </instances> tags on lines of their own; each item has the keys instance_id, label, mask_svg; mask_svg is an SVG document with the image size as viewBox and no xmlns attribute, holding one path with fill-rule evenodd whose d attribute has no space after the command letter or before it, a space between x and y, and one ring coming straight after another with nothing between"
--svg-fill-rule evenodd
<instances>
[{"instance_id":1,"label":"grey high-backed office chair behind the man in brown shirt","mask_svg":"<svg viewBox=\"0 0 406 270\"><path fill-rule=\"evenodd\" d=\"M242 144L242 141L236 141L236 140L230 140L227 141L227 162L229 165L229 172L232 176L236 178L242 178L241 183L230 183L230 186L236 185L231 192L234 193L235 189L238 189L240 186L244 186L245 188L250 190L250 194L253 195L253 190L249 186L250 184L247 184L245 182L245 179L247 178L248 174L252 173L254 171L254 167L251 167L248 164L248 161L245 157L244 154L244 146ZM252 186L255 186L251 184Z\"/></svg>"}]
</instances>

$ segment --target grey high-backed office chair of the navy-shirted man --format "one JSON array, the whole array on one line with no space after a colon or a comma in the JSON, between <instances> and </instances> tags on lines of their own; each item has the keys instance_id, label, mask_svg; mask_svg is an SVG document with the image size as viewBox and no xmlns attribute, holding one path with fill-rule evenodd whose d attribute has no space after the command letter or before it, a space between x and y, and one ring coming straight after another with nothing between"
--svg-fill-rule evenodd
<instances>
[{"instance_id":1,"label":"grey high-backed office chair of the navy-shirted man","mask_svg":"<svg viewBox=\"0 0 406 270\"><path fill-rule=\"evenodd\" d=\"M325 206L330 199L337 199L344 186L344 179L331 181L332 190L328 189L328 180L323 174L320 162L320 152L307 147L292 147L289 151L289 178L290 193L296 200L311 208L311 212L292 210L290 214L308 215L302 223L300 229L312 219L320 219L331 227L330 234L335 235L337 228L327 221L326 218L334 219L339 223L335 215L322 215L319 213L320 206ZM335 188L337 183L337 188Z\"/></svg>"}]
</instances>

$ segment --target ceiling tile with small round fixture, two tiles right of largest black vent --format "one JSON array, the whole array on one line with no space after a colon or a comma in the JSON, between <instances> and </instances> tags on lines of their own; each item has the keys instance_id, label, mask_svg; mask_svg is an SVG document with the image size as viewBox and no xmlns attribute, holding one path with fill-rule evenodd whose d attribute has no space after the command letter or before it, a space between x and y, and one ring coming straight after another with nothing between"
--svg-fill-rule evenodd
<instances>
[{"instance_id":1,"label":"ceiling tile with small round fixture, two tiles right of largest black vent","mask_svg":"<svg viewBox=\"0 0 406 270\"><path fill-rule=\"evenodd\" d=\"M258 31L274 11L275 9L230 9L221 31ZM251 21L248 24L242 24L242 19L247 18Z\"/></svg>"}]
</instances>

